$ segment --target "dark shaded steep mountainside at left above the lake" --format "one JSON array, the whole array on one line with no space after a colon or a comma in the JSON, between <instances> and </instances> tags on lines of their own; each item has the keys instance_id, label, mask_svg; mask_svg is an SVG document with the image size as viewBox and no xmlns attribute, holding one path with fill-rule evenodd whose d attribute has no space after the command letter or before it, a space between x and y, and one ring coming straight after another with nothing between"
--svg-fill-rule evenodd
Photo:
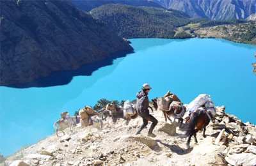
<instances>
[{"instance_id":1,"label":"dark shaded steep mountainside at left above the lake","mask_svg":"<svg viewBox=\"0 0 256 166\"><path fill-rule=\"evenodd\" d=\"M105 24L71 1L1 1L0 85L29 82L53 71L132 50Z\"/></svg>"}]
</instances>

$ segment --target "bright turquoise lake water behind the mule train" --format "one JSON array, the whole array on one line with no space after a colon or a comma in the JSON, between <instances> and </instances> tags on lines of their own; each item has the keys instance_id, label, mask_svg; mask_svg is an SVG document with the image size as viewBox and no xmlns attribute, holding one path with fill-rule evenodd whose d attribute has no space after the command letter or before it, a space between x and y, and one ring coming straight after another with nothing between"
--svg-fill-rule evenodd
<instances>
[{"instance_id":1,"label":"bright turquoise lake water behind the mule train","mask_svg":"<svg viewBox=\"0 0 256 166\"><path fill-rule=\"evenodd\" d=\"M256 124L256 47L220 39L131 39L134 53L113 60L90 76L76 76L63 86L0 87L0 153L12 155L22 147L54 133L60 112L71 115L101 98L134 100L145 82L150 99L168 90L183 103L207 93L216 106L244 123Z\"/></svg>"}]
</instances>

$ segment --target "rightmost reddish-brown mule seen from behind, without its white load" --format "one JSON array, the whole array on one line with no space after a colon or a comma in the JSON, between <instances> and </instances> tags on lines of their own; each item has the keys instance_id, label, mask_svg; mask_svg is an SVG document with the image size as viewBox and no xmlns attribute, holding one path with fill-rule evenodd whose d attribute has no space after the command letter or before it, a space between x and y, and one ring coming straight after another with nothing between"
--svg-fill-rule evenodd
<instances>
[{"instance_id":1,"label":"rightmost reddish-brown mule seen from behind, without its white load","mask_svg":"<svg viewBox=\"0 0 256 166\"><path fill-rule=\"evenodd\" d=\"M199 130L204 130L203 131L203 137L205 138L205 130L206 130L206 126L209 124L209 122L211 121L211 119L207 116L207 112L204 109L196 109L195 111L193 111L190 116L189 119L186 120L186 123L188 124L188 130L186 131L185 135L186 137L188 137L187 140L187 147L189 148L189 143L191 140L191 137L194 135L195 137L195 142L197 143L197 139L196 139L196 133Z\"/></svg>"}]
</instances>

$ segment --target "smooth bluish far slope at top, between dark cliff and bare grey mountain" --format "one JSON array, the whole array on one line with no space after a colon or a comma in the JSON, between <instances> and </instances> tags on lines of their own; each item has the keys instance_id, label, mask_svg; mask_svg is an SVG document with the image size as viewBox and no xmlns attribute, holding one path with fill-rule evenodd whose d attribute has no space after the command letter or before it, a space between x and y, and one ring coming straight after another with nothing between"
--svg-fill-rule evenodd
<instances>
[{"instance_id":1,"label":"smooth bluish far slope at top, between dark cliff and bare grey mountain","mask_svg":"<svg viewBox=\"0 0 256 166\"><path fill-rule=\"evenodd\" d=\"M163 8L163 6L160 4L147 0L72 0L72 3L74 3L77 8L84 11L90 11L93 8L97 8L104 4L128 4L132 6L151 6L156 8Z\"/></svg>"}]
</instances>

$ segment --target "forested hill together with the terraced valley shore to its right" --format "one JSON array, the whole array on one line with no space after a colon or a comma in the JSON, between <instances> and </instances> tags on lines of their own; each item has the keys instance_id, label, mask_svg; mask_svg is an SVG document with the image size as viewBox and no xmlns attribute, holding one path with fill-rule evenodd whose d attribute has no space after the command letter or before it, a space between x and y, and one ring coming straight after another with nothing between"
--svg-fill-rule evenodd
<instances>
[{"instance_id":1,"label":"forested hill together with the terraced valley shore to its right","mask_svg":"<svg viewBox=\"0 0 256 166\"><path fill-rule=\"evenodd\" d=\"M255 23L247 20L191 19L178 10L124 4L105 4L89 13L122 38L225 38L256 44Z\"/></svg>"}]
</instances>

